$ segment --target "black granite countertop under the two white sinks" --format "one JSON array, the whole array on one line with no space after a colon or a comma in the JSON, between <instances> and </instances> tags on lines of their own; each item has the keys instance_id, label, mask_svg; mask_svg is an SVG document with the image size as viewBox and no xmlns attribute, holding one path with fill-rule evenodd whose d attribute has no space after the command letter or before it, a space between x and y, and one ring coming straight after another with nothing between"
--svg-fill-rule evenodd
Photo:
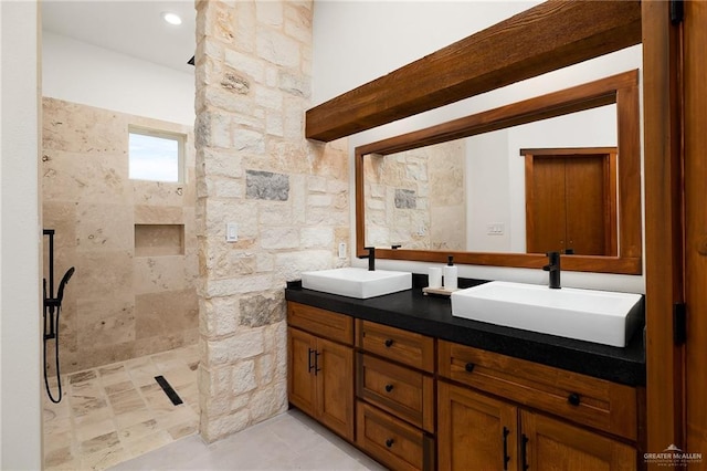
<instances>
[{"instance_id":1,"label":"black granite countertop under the two white sinks","mask_svg":"<svg viewBox=\"0 0 707 471\"><path fill-rule=\"evenodd\" d=\"M479 283L483 281L465 284ZM454 317L449 297L425 296L420 287L357 300L288 283L285 299L610 381L645 386L643 328L636 331L625 348L574 341Z\"/></svg>"}]
</instances>

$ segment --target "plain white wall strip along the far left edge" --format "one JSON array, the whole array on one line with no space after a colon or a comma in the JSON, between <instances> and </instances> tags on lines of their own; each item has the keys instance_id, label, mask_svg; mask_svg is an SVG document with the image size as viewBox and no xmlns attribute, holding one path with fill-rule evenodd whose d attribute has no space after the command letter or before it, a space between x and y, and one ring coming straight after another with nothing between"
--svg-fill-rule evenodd
<instances>
[{"instance_id":1,"label":"plain white wall strip along the far left edge","mask_svg":"<svg viewBox=\"0 0 707 471\"><path fill-rule=\"evenodd\" d=\"M0 2L0 469L42 467L38 3Z\"/></svg>"}]
</instances>

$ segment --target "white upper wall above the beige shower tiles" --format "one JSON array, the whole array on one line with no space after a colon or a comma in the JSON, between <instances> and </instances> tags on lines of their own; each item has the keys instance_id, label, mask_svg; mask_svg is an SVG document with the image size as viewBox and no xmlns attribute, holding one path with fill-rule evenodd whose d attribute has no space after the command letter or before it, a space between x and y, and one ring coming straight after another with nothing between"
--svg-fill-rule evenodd
<instances>
[{"instance_id":1,"label":"white upper wall above the beige shower tiles","mask_svg":"<svg viewBox=\"0 0 707 471\"><path fill-rule=\"evenodd\" d=\"M194 77L173 69L42 33L42 95L172 123L194 124Z\"/></svg>"}]
</instances>

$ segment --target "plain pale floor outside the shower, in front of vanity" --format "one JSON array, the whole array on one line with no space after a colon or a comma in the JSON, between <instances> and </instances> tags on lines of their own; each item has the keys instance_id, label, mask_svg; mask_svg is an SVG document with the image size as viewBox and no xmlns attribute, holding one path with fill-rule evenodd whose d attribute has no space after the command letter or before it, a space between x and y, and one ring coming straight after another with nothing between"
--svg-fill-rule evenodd
<instances>
[{"instance_id":1,"label":"plain pale floor outside the shower, in front of vanity","mask_svg":"<svg viewBox=\"0 0 707 471\"><path fill-rule=\"evenodd\" d=\"M223 440L196 435L120 463L140 470L384 470L296 409Z\"/></svg>"}]
</instances>

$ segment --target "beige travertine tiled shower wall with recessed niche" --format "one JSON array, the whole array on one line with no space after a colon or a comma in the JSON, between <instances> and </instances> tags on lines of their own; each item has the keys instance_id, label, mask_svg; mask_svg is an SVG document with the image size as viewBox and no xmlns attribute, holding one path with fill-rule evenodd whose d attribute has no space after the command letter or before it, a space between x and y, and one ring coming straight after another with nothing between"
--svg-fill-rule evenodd
<instances>
[{"instance_id":1,"label":"beige travertine tiled shower wall with recessed niche","mask_svg":"<svg viewBox=\"0 0 707 471\"><path fill-rule=\"evenodd\" d=\"M54 290L76 269L60 316L62 374L197 343L192 128L42 103L43 226L56 231ZM184 182L128 179L128 125L187 136Z\"/></svg>"}]
</instances>

